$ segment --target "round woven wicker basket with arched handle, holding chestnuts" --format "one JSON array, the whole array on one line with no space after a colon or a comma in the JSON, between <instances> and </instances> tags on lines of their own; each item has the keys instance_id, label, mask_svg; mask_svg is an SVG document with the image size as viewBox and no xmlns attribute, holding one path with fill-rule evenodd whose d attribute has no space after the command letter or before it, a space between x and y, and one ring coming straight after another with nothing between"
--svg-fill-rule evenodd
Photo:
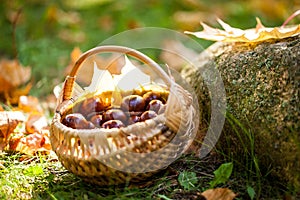
<instances>
[{"instance_id":1,"label":"round woven wicker basket with arched handle, holding chestnuts","mask_svg":"<svg viewBox=\"0 0 300 200\"><path fill-rule=\"evenodd\" d=\"M103 52L122 53L151 67L169 91L165 112L123 128L72 129L62 124L79 98L73 94L77 71L89 56ZM198 126L194 103L191 94L146 55L121 46L96 47L82 54L66 77L51 124L52 148L62 165L85 181L99 185L140 181L167 167L190 145Z\"/></svg>"}]
</instances>

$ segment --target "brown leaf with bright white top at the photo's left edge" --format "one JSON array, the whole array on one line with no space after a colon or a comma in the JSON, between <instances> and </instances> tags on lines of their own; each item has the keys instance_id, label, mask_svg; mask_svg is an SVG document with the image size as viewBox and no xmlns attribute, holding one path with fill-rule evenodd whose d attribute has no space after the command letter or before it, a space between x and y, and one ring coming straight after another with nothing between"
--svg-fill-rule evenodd
<instances>
[{"instance_id":1,"label":"brown leaf with bright white top at the photo's left edge","mask_svg":"<svg viewBox=\"0 0 300 200\"><path fill-rule=\"evenodd\" d=\"M0 112L0 150L8 144L10 135L14 132L19 122L24 122L25 116L18 111Z\"/></svg>"}]
</instances>

